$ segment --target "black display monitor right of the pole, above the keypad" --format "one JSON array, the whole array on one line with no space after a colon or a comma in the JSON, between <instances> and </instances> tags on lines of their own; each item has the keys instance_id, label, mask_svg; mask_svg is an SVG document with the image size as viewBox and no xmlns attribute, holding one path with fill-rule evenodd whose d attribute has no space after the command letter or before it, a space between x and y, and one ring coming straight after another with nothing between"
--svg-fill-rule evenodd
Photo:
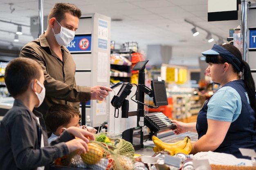
<instances>
[{"instance_id":1,"label":"black display monitor right of the pole, above the keypad","mask_svg":"<svg viewBox=\"0 0 256 170\"><path fill-rule=\"evenodd\" d=\"M158 81L157 79L151 80L151 88L153 91L153 101L155 106L168 105L168 99L166 95L166 87L164 80Z\"/></svg>"}]
</instances>

